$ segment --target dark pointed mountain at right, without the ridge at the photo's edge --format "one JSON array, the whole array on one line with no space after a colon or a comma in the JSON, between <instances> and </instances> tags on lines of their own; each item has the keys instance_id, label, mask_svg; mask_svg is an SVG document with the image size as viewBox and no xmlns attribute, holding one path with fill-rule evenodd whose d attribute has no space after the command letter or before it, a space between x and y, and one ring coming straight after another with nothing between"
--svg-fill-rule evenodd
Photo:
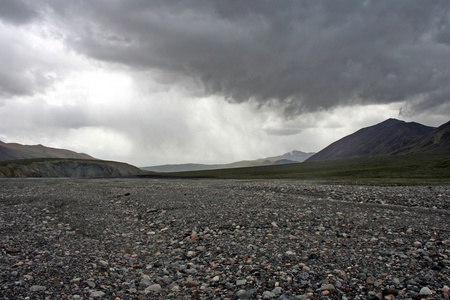
<instances>
[{"instance_id":1,"label":"dark pointed mountain at right, without the ridge at the photo's edge","mask_svg":"<svg viewBox=\"0 0 450 300\"><path fill-rule=\"evenodd\" d=\"M434 130L434 127L415 122L407 123L396 119L388 119L374 126L362 128L332 143L306 161L406 153L408 147L411 147L413 143L420 144L420 141L424 137L432 135ZM410 151L412 148L410 148Z\"/></svg>"}]
</instances>

